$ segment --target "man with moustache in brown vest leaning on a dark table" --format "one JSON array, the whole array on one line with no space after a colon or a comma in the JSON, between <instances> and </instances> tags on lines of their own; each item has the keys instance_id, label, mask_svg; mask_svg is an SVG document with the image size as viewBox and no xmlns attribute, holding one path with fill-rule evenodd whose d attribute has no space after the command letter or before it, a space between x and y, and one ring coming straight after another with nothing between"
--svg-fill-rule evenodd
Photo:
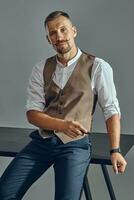
<instances>
[{"instance_id":1,"label":"man with moustache in brown vest leaning on a dark table","mask_svg":"<svg viewBox=\"0 0 134 200\"><path fill-rule=\"evenodd\" d=\"M90 130L96 99L104 113L115 173L126 161L120 153L120 109L112 69L104 60L81 51L77 29L67 13L55 11L45 20L47 40L56 56L37 64L28 86L27 119L39 127L0 181L0 199L22 199L51 166L55 200L78 200L91 159Z\"/></svg>"}]
</instances>

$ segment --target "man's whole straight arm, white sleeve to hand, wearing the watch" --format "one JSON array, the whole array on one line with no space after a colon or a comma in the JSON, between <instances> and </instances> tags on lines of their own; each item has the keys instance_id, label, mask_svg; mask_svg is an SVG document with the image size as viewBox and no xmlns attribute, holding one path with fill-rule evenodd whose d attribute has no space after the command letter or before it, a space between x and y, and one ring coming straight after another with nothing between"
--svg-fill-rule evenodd
<instances>
[{"instance_id":1,"label":"man's whole straight arm, white sleeve to hand, wearing the watch","mask_svg":"<svg viewBox=\"0 0 134 200\"><path fill-rule=\"evenodd\" d=\"M98 96L98 103L104 113L110 150L120 146L120 108L113 81L113 71L110 65L97 58L93 68L93 88ZM124 172L126 161L121 153L112 153L111 162L114 171Z\"/></svg>"}]
</instances>

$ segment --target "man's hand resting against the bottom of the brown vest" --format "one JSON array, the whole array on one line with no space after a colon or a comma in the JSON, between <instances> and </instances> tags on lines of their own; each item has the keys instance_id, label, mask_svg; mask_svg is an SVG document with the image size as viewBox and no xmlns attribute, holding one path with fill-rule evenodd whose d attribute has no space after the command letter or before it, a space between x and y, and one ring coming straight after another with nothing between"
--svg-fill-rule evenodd
<instances>
[{"instance_id":1,"label":"man's hand resting against the bottom of the brown vest","mask_svg":"<svg viewBox=\"0 0 134 200\"><path fill-rule=\"evenodd\" d=\"M87 133L87 130L77 121L64 121L62 131L71 138Z\"/></svg>"}]
</instances>

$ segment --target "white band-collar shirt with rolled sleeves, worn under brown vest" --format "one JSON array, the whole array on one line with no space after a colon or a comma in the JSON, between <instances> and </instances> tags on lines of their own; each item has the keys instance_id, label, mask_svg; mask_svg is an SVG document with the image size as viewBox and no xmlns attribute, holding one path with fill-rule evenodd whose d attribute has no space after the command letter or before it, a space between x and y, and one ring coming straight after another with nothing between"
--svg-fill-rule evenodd
<instances>
[{"instance_id":1,"label":"white band-collar shirt with rolled sleeves, worn under brown vest","mask_svg":"<svg viewBox=\"0 0 134 200\"><path fill-rule=\"evenodd\" d=\"M78 58L82 54L78 49L77 55L71 59L67 66L63 66L58 60L56 70L53 74L53 81L63 89L72 74ZM26 103L26 111L45 109L44 79L43 69L46 59L42 59L33 67L29 85L27 88L28 98ZM101 58L96 57L91 74L91 87L94 94L98 96L98 103L107 120L114 114L120 115L120 108L116 96L116 89L113 81L113 71L111 66Z\"/></svg>"}]
</instances>

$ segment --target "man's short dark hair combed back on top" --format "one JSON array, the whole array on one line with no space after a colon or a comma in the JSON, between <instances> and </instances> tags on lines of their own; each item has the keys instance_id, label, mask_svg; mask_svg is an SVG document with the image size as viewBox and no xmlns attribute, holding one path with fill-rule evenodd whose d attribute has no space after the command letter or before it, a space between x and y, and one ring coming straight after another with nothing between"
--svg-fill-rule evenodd
<instances>
[{"instance_id":1,"label":"man's short dark hair combed back on top","mask_svg":"<svg viewBox=\"0 0 134 200\"><path fill-rule=\"evenodd\" d=\"M45 28L46 28L47 23L48 23L49 21L52 21L53 19L55 19L56 17L59 17L59 16L66 17L67 19L71 20L71 19L70 19L70 16L69 16L67 13L65 13L65 12L63 12L63 11L54 11L54 12L50 13L50 14L46 17L46 19L45 19L45 21L44 21L44 26L45 26Z\"/></svg>"}]
</instances>

